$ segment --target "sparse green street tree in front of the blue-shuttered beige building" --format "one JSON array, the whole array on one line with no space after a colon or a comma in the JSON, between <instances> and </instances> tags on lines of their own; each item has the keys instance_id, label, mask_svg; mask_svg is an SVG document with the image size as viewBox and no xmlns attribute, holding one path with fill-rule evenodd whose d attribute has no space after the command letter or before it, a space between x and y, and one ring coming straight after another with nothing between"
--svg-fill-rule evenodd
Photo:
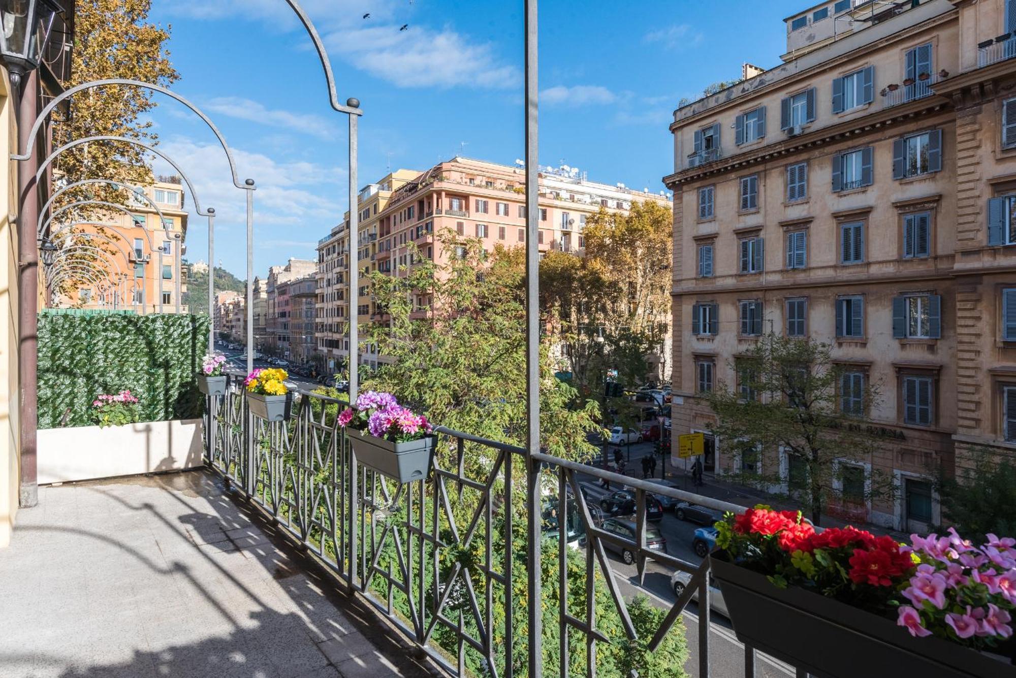
<instances>
[{"instance_id":1,"label":"sparse green street tree in front of the blue-shuttered beige building","mask_svg":"<svg viewBox=\"0 0 1016 678\"><path fill-rule=\"evenodd\" d=\"M829 344L770 333L732 367L738 383L720 382L703 398L716 413L712 433L741 459L736 480L766 488L786 483L815 525L830 506L895 491L879 471L856 475L876 449L862 422L878 394L850 380L852 398L843 406L847 368L832 361ZM788 477L758 472L766 450L788 456Z\"/></svg>"}]
</instances>

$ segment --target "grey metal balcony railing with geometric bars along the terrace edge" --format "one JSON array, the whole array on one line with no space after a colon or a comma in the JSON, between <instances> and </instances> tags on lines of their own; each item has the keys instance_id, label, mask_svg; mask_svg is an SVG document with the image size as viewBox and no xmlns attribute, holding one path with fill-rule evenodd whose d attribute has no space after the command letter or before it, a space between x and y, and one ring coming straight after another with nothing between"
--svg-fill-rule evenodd
<instances>
[{"instance_id":1,"label":"grey metal balcony railing with geometric bars along the terrace edge","mask_svg":"<svg viewBox=\"0 0 1016 678\"><path fill-rule=\"evenodd\" d=\"M606 531L579 481L627 485L640 507L646 492L717 511L741 506L541 453L528 455L542 467L542 505L532 506L523 449L440 427L426 480L399 485L358 464L336 423L344 402L300 392L289 421L267 423L250 415L242 380L230 375L227 394L209 402L206 463L447 675L524 675L528 648L535 643L539 652L544 642L555 645L552 657L574 657L580 647L585 658L582 666L563 667L552 659L545 675L595 675L597 647L623 639L597 626L604 611L586 595L590 589L609 592L611 614L623 629L615 633L636 635L607 544L630 552L640 572L651 559L690 573L660 625L641 630L656 649L668 633L682 632L674 624L697 596L698 676L710 675L708 558L695 565L648 548L644 510L634 519L633 538ZM533 511L541 520L530 520ZM526 563L532 543L541 544L545 567ZM527 599L519 593L531 590L535 578L557 622L545 622L545 631L554 629L547 638L526 631ZM755 651L747 648L744 659L745 675L754 676Z\"/></svg>"}]
</instances>

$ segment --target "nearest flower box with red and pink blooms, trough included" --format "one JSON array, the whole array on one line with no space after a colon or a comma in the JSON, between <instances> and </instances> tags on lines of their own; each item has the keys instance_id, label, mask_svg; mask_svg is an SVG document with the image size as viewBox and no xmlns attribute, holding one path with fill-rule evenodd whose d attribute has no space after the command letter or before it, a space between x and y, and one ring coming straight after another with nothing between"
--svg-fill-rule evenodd
<instances>
[{"instance_id":1,"label":"nearest flower box with red and pink blooms, trough included","mask_svg":"<svg viewBox=\"0 0 1016 678\"><path fill-rule=\"evenodd\" d=\"M822 532L767 506L716 524L710 555L738 637L820 678L1012 678L1016 540L912 545Z\"/></svg>"}]
</instances>

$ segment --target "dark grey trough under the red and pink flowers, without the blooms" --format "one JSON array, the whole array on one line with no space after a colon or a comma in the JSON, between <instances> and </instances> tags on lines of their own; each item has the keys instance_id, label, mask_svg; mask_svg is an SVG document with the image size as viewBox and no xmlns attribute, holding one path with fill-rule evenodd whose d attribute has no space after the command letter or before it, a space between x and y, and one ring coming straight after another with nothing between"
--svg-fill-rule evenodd
<instances>
[{"instance_id":1,"label":"dark grey trough under the red and pink flowers, without the blooms","mask_svg":"<svg viewBox=\"0 0 1016 678\"><path fill-rule=\"evenodd\" d=\"M1008 658L935 636L917 638L887 617L709 556L738 639L815 678L1013 678ZM1000 649L1001 651L1001 649Z\"/></svg>"}]
</instances>

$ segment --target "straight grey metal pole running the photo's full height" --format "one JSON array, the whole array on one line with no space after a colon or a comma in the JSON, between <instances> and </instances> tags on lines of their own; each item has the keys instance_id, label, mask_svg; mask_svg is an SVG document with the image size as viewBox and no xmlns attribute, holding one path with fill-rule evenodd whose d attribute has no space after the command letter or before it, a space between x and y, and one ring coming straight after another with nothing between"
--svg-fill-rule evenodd
<instances>
[{"instance_id":1,"label":"straight grey metal pole running the photo's full height","mask_svg":"<svg viewBox=\"0 0 1016 678\"><path fill-rule=\"evenodd\" d=\"M539 464L539 180L537 124L537 0L525 0L525 371L526 371L526 535L528 543L529 675L544 675L544 619L541 572ZM559 544L559 548L565 548Z\"/></svg>"}]
</instances>

